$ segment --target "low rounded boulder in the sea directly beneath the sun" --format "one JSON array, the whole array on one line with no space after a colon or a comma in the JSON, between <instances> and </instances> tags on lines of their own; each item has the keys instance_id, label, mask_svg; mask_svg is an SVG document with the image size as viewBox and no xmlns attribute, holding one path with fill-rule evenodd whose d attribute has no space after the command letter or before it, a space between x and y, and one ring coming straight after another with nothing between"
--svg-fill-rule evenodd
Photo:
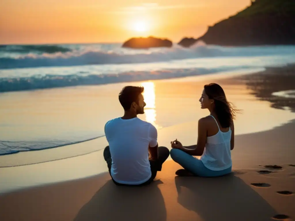
<instances>
[{"instance_id":1,"label":"low rounded boulder in the sea directly beneath the sun","mask_svg":"<svg viewBox=\"0 0 295 221\"><path fill-rule=\"evenodd\" d=\"M155 37L148 38L131 38L123 43L122 47L134 49L147 49L151 47L172 47L172 42L168 39L160 39Z\"/></svg>"}]
</instances>

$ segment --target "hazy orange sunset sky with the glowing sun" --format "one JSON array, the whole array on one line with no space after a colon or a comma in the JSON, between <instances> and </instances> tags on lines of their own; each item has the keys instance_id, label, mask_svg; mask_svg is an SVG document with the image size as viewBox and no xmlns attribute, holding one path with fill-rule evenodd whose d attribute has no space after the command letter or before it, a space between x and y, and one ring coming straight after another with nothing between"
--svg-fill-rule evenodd
<instances>
[{"instance_id":1,"label":"hazy orange sunset sky with the glowing sun","mask_svg":"<svg viewBox=\"0 0 295 221\"><path fill-rule=\"evenodd\" d=\"M1 0L0 44L199 37L250 0Z\"/></svg>"}]
</instances>

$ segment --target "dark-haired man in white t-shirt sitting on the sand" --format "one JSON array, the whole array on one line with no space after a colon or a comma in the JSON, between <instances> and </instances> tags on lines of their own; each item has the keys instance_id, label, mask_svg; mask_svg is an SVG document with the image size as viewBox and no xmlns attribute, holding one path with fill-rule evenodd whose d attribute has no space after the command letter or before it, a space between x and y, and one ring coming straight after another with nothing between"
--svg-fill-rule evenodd
<instances>
[{"instance_id":1,"label":"dark-haired man in white t-shirt sitting on the sand","mask_svg":"<svg viewBox=\"0 0 295 221\"><path fill-rule=\"evenodd\" d=\"M137 114L145 113L143 90L143 87L124 87L119 93L124 116L104 126L109 143L104 149L104 159L117 185L149 184L170 154L166 147L158 147L157 129L137 118Z\"/></svg>"}]
</instances>

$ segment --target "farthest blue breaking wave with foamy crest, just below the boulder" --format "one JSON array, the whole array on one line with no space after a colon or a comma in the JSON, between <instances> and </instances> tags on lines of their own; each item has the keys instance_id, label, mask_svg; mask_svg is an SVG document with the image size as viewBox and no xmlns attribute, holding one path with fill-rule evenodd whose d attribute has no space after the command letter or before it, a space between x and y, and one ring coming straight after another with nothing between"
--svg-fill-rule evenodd
<instances>
[{"instance_id":1,"label":"farthest blue breaking wave with foamy crest, just below the boulder","mask_svg":"<svg viewBox=\"0 0 295 221\"><path fill-rule=\"evenodd\" d=\"M8 47L5 46L4 49ZM11 46L12 47L12 46ZM0 48L4 50L3 46ZM101 49L96 47L64 47L64 46L13 46L10 50L28 50L27 54L15 56L1 56L0 69L28 68L28 67L61 67L101 64L130 64L164 62L205 57L229 56L265 56L294 54L294 47L219 47L195 46L193 48L159 48L152 50L127 50L120 47ZM39 50L44 53L31 53Z\"/></svg>"}]
</instances>

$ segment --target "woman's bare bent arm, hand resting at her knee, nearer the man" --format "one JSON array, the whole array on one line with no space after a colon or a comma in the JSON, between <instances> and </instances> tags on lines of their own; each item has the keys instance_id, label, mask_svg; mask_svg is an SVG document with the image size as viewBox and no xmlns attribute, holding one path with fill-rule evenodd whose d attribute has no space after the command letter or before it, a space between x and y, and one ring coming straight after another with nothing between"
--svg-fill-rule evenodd
<instances>
[{"instance_id":1,"label":"woman's bare bent arm, hand resting at her knee, nearer the man","mask_svg":"<svg viewBox=\"0 0 295 221\"><path fill-rule=\"evenodd\" d=\"M172 148L178 148L182 151L190 154L192 156L201 156L204 152L205 144L207 142L207 127L206 127L206 119L201 118L198 121L198 141L196 145L191 146L182 146L178 145L179 141L176 141L176 144L172 143Z\"/></svg>"}]
</instances>

